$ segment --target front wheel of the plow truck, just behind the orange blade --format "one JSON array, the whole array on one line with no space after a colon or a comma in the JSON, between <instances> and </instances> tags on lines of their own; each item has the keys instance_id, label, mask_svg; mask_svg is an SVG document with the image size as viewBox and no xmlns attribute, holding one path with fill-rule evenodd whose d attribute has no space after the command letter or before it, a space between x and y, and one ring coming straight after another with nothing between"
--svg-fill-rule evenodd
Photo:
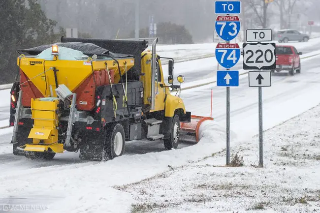
<instances>
[{"instance_id":1,"label":"front wheel of the plow truck, just behind the orange blade","mask_svg":"<svg viewBox=\"0 0 320 213\"><path fill-rule=\"evenodd\" d=\"M173 117L171 132L169 139L164 139L164 148L166 150L177 149L180 141L180 120L179 116L175 115Z\"/></svg>"}]
</instances>

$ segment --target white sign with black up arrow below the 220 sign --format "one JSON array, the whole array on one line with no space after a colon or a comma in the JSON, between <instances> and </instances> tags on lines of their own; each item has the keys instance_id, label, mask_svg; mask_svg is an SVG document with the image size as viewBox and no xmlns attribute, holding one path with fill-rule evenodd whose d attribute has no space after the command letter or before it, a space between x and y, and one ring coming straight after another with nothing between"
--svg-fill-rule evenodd
<instances>
[{"instance_id":1,"label":"white sign with black up arrow below the 220 sign","mask_svg":"<svg viewBox=\"0 0 320 213\"><path fill-rule=\"evenodd\" d=\"M271 71L250 71L249 87L271 87Z\"/></svg>"}]
</instances>

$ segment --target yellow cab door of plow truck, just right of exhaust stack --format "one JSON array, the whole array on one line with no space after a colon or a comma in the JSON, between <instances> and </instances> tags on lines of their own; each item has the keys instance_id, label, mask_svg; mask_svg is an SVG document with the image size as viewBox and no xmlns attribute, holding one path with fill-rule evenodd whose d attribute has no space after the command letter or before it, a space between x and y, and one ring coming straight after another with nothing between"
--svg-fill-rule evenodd
<instances>
[{"instance_id":1,"label":"yellow cab door of plow truck, just right of exhaust stack","mask_svg":"<svg viewBox=\"0 0 320 213\"><path fill-rule=\"evenodd\" d=\"M165 97L165 88L161 86L164 85L163 73L161 62L157 59L156 61L156 108L155 111L164 110L164 97Z\"/></svg>"}]
</instances>

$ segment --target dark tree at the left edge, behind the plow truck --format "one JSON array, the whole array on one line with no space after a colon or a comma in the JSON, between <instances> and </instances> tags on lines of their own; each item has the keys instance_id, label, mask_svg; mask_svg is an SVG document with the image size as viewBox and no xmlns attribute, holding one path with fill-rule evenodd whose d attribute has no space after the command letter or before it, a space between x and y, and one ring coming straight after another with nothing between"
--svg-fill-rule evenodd
<instances>
[{"instance_id":1,"label":"dark tree at the left edge, behind the plow truck","mask_svg":"<svg viewBox=\"0 0 320 213\"><path fill-rule=\"evenodd\" d=\"M60 38L60 33L54 33L56 24L46 17L37 0L0 1L0 84L14 81L18 72L17 50Z\"/></svg>"}]
</instances>

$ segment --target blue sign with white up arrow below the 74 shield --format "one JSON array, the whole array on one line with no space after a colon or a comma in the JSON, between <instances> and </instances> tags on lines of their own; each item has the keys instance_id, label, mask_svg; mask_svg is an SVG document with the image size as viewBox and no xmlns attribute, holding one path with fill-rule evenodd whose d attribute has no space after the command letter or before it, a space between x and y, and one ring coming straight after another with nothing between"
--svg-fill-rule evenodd
<instances>
[{"instance_id":1,"label":"blue sign with white up arrow below the 74 shield","mask_svg":"<svg viewBox=\"0 0 320 213\"><path fill-rule=\"evenodd\" d=\"M239 87L239 71L217 71L218 87Z\"/></svg>"}]
</instances>

